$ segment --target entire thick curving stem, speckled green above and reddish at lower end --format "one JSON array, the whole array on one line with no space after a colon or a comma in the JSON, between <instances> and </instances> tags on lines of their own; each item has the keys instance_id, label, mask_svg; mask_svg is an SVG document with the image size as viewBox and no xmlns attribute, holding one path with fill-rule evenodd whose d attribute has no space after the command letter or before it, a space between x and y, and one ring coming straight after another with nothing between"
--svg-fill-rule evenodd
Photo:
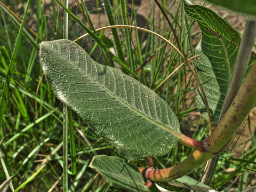
<instances>
[{"instance_id":1,"label":"entire thick curving stem, speckled green above and reddish at lower end","mask_svg":"<svg viewBox=\"0 0 256 192\"><path fill-rule=\"evenodd\" d=\"M194 151L185 161L168 169L153 170L140 168L142 174L151 181L168 181L186 175L197 167L203 165L214 153L220 151L249 114L256 102L256 62L253 64L244 83L239 89L234 101L231 103L225 116L212 133L209 139L204 141L204 147L210 153L199 150Z\"/></svg>"}]
</instances>

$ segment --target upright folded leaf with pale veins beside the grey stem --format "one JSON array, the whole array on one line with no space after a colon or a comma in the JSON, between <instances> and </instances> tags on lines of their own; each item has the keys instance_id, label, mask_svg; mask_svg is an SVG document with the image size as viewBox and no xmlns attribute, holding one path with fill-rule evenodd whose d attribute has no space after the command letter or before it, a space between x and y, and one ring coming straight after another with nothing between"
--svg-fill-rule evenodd
<instances>
[{"instance_id":1,"label":"upright folded leaf with pale veins beside the grey stem","mask_svg":"<svg viewBox=\"0 0 256 192\"><path fill-rule=\"evenodd\" d=\"M226 20L206 7L185 3L185 11L198 22L201 28L202 39L196 48L196 54L201 57L198 59L196 68L209 103L212 121L218 122L233 75L241 37ZM250 65L252 62L251 58ZM199 111L207 118L199 91L196 100Z\"/></svg>"}]
</instances>

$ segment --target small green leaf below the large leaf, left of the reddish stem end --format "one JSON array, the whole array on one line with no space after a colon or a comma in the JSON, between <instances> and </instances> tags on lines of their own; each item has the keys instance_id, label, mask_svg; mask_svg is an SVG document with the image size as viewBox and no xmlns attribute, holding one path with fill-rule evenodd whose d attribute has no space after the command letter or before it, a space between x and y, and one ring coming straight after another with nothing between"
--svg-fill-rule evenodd
<instances>
[{"instance_id":1,"label":"small green leaf below the large leaf, left of the reddish stem end","mask_svg":"<svg viewBox=\"0 0 256 192\"><path fill-rule=\"evenodd\" d=\"M111 185L129 191L150 191L137 167L126 164L119 157L108 157L106 155L94 156L90 167L100 174Z\"/></svg>"}]
</instances>

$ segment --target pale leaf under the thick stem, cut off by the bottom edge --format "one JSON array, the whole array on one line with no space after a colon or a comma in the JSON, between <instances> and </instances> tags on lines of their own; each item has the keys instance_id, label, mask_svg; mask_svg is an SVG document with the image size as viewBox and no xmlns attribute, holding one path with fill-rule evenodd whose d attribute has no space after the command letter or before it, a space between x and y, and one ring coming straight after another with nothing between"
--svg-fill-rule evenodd
<instances>
[{"instance_id":1,"label":"pale leaf under the thick stem, cut off by the bottom edge","mask_svg":"<svg viewBox=\"0 0 256 192\"><path fill-rule=\"evenodd\" d=\"M168 184L176 187L187 188L197 192L214 192L214 191L217 192L211 187L204 185L203 183L198 182L197 180L192 179L188 176L183 176L174 181L169 181Z\"/></svg>"}]
</instances>

